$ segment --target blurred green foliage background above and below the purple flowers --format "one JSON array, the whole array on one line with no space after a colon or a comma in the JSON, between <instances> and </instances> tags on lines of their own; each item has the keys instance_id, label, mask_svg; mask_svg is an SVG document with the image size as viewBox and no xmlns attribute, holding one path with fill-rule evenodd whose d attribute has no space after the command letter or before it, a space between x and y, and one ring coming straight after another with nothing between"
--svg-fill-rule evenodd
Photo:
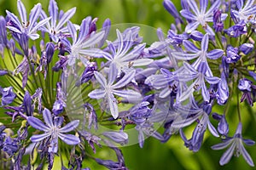
<instances>
[{"instance_id":1,"label":"blurred green foliage background above and below the purple flowers","mask_svg":"<svg viewBox=\"0 0 256 170\"><path fill-rule=\"evenodd\" d=\"M84 17L91 15L93 18L98 17L97 26L100 28L105 19L109 18L112 24L121 23L137 23L154 28L161 27L164 32L168 31L171 23L174 21L172 16L168 14L162 6L162 0L56 0L59 9L67 11L72 7L77 7L77 12L74 14L72 21L80 24ZM180 8L179 1L173 1ZM47 0L23 0L26 9L29 10L36 3L42 3L44 9L48 9ZM5 9L8 9L15 14L16 0L0 0L0 14L5 15ZM151 35L148 35L151 36ZM243 135L245 138L256 140L255 132L255 106L253 110L248 110L247 105L241 105L242 108L242 122ZM214 111L222 113L224 108L218 108ZM253 118L252 118L253 117ZM228 120L230 122L230 135L233 135L236 130L237 116L236 107L231 106L228 113ZM217 122L212 121L215 127ZM194 124L195 126L195 124ZM186 133L190 133L193 128L187 129ZM161 144L156 139L149 138L145 141L143 149L140 149L138 144L122 148L125 156L126 166L131 170L143 169L253 169L249 167L242 156L239 158L233 157L228 165L224 167L219 166L218 161L224 150L211 150L213 144L220 142L209 135L208 131L204 138L204 143L199 152L193 153L183 146L183 141L176 135L166 143ZM256 146L246 147L251 154L254 163L256 163ZM87 147L87 150L90 150ZM112 151L97 148L97 156L105 159L115 159ZM113 156L113 158L111 158ZM60 165L55 161L55 169L60 169ZM84 166L91 169L105 169L97 165L94 161L85 161Z\"/></svg>"}]
</instances>

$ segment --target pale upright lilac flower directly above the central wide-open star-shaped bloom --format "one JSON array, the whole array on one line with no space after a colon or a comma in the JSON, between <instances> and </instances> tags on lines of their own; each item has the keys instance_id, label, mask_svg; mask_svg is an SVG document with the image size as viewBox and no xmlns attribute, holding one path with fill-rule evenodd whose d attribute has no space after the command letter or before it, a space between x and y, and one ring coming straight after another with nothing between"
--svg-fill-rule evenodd
<instances>
[{"instance_id":1,"label":"pale upright lilac flower directly above the central wide-open star-shaped bloom","mask_svg":"<svg viewBox=\"0 0 256 170\"><path fill-rule=\"evenodd\" d=\"M153 62L153 59L139 59L146 44L138 44L133 47L137 42L134 40L132 30L127 30L125 35L122 35L119 30L116 30L116 32L117 42L108 42L110 54L104 55L104 57L116 65L118 76L120 76L121 71L128 72L133 66L149 65ZM115 46L115 43L117 43L117 46Z\"/></svg>"}]
</instances>

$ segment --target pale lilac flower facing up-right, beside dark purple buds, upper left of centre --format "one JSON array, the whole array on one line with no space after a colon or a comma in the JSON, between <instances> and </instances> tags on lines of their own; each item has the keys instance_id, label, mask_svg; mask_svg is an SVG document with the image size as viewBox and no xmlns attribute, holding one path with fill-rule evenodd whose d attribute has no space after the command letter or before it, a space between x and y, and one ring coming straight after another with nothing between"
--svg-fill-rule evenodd
<instances>
[{"instance_id":1,"label":"pale lilac flower facing up-right, beside dark purple buds, upper left of centre","mask_svg":"<svg viewBox=\"0 0 256 170\"><path fill-rule=\"evenodd\" d=\"M99 48L91 48L100 42L105 34L104 31L97 33L95 33L95 31L90 32L91 22L90 17L87 17L82 21L79 37L75 26L70 21L67 22L67 28L72 37L73 44L64 38L61 41L65 43L66 50L69 53L67 55L68 65L74 65L76 59L80 59L84 65L89 65L89 57L102 57L102 54L104 54Z\"/></svg>"}]
</instances>

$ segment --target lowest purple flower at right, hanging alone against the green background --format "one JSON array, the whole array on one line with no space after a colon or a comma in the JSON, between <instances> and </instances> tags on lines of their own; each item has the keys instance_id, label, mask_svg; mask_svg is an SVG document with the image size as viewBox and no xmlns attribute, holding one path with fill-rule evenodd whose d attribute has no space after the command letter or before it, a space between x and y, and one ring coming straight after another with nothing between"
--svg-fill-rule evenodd
<instances>
[{"instance_id":1,"label":"lowest purple flower at right, hanging alone against the green background","mask_svg":"<svg viewBox=\"0 0 256 170\"><path fill-rule=\"evenodd\" d=\"M224 152L224 155L221 156L219 160L220 165L224 165L228 163L231 159L231 156L240 156L242 155L243 158L247 161L247 163L254 167L253 160L251 156L247 153L247 150L245 150L243 143L247 145L253 145L255 142L251 139L243 139L241 136L241 122L239 122L236 133L232 138L223 139L224 142L220 144L215 144L212 146L212 150L223 150L224 148L227 148L230 146L228 150Z\"/></svg>"}]
</instances>

